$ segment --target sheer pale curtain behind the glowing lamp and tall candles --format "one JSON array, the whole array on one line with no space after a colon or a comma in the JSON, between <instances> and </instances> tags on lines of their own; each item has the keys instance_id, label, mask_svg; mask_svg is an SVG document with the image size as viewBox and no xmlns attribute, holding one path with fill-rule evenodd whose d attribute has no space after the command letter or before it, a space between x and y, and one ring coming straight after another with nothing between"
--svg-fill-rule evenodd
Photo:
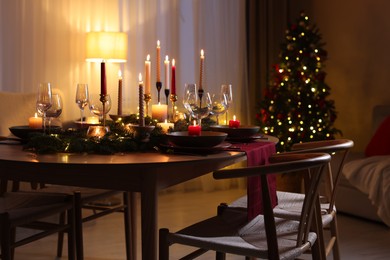
<instances>
[{"instance_id":1,"label":"sheer pale curtain behind the glowing lamp and tall candles","mask_svg":"<svg viewBox=\"0 0 390 260\"><path fill-rule=\"evenodd\" d=\"M199 56L204 49L205 90L216 92L222 83L232 84L234 102L229 115L236 114L244 124L252 121L245 102L249 96L245 1L1 0L0 91L35 92L39 82L51 82L64 94L64 120L76 119L76 84L88 83L90 93L100 90L100 65L85 61L89 31L128 33L127 62L106 65L112 111L117 109L119 70L123 74L123 110L137 111L138 73L144 73L144 61L150 54L155 82L156 42L160 40L162 59L168 55L176 60L179 109L184 110L184 84L199 81ZM152 103L156 96L152 84ZM204 184L191 184L194 186Z\"/></svg>"}]
</instances>

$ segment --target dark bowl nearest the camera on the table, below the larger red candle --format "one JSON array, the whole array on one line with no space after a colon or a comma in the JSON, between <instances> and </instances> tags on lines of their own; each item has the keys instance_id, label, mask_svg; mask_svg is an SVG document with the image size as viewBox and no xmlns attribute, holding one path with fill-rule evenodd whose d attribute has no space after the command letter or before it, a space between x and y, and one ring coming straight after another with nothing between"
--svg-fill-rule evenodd
<instances>
[{"instance_id":1,"label":"dark bowl nearest the camera on the table, below the larger red candle","mask_svg":"<svg viewBox=\"0 0 390 260\"><path fill-rule=\"evenodd\" d=\"M213 147L225 141L227 134L202 131L200 135L188 135L187 131L166 134L168 142L181 147Z\"/></svg>"}]
</instances>

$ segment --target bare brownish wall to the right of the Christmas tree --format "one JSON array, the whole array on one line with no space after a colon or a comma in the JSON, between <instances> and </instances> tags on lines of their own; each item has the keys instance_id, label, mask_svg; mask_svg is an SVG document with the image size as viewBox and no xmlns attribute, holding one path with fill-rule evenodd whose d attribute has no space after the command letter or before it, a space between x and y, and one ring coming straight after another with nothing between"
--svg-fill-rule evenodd
<instances>
[{"instance_id":1,"label":"bare brownish wall to the right of the Christmas tree","mask_svg":"<svg viewBox=\"0 0 390 260\"><path fill-rule=\"evenodd\" d=\"M326 42L325 63L336 126L364 150L371 135L371 112L390 104L390 2L386 0L312 0L306 13Z\"/></svg>"}]
</instances>

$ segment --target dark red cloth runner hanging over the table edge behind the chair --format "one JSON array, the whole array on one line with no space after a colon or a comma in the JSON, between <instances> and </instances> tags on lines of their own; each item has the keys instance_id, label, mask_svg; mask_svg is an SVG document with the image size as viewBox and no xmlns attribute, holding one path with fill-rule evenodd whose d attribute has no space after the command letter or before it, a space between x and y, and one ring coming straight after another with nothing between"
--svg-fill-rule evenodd
<instances>
[{"instance_id":1,"label":"dark red cloth runner hanging over the table edge behind the chair","mask_svg":"<svg viewBox=\"0 0 390 260\"><path fill-rule=\"evenodd\" d=\"M272 154L276 153L276 146L273 142L253 142L235 144L235 146L240 147L240 149L246 153L248 166L268 164L268 158ZM271 203L272 206L275 207L278 204L275 175L268 175L268 185L270 189ZM260 177L256 176L248 178L247 195L248 220L251 220L263 212Z\"/></svg>"}]
</instances>

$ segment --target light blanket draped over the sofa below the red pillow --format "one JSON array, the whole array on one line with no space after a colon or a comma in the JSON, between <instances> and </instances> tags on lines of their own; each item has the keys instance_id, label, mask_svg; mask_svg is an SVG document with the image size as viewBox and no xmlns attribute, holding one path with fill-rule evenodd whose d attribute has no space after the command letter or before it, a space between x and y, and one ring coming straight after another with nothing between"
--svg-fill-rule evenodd
<instances>
[{"instance_id":1,"label":"light blanket draped over the sofa below the red pillow","mask_svg":"<svg viewBox=\"0 0 390 260\"><path fill-rule=\"evenodd\" d=\"M343 174L378 208L377 214L390 227L390 156L371 156L346 163Z\"/></svg>"}]
</instances>

